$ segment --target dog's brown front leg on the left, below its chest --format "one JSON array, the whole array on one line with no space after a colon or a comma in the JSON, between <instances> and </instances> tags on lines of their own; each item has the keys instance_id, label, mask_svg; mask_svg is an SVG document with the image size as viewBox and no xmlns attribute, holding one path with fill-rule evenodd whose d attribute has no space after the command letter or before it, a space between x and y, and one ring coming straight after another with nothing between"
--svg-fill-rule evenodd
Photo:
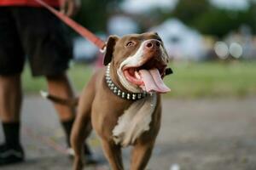
<instances>
[{"instance_id":1,"label":"dog's brown front leg on the left, below its chest","mask_svg":"<svg viewBox=\"0 0 256 170\"><path fill-rule=\"evenodd\" d=\"M124 170L120 146L113 144L113 142L102 140L102 147L112 169Z\"/></svg>"}]
</instances>

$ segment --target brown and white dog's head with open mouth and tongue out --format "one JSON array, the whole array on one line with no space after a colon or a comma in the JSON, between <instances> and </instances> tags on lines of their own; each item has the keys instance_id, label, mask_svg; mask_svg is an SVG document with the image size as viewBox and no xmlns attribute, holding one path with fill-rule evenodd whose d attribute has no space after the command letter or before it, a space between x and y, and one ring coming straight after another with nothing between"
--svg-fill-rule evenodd
<instances>
[{"instance_id":1,"label":"brown and white dog's head with open mouth and tongue out","mask_svg":"<svg viewBox=\"0 0 256 170\"><path fill-rule=\"evenodd\" d=\"M111 62L113 77L132 93L142 91L166 93L170 91L162 78L166 73L168 55L155 32L110 36L104 65Z\"/></svg>"}]
</instances>

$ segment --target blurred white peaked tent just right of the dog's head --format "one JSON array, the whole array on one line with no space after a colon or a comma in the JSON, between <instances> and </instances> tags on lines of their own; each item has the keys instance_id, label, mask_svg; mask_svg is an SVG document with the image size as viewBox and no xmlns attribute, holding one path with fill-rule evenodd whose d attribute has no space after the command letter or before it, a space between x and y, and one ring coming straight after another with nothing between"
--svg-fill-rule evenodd
<instances>
[{"instance_id":1,"label":"blurred white peaked tent just right of the dog's head","mask_svg":"<svg viewBox=\"0 0 256 170\"><path fill-rule=\"evenodd\" d=\"M201 34L183 25L180 20L166 20L156 31L165 43L166 50L174 59L199 60L205 55L205 47Z\"/></svg>"}]
</instances>

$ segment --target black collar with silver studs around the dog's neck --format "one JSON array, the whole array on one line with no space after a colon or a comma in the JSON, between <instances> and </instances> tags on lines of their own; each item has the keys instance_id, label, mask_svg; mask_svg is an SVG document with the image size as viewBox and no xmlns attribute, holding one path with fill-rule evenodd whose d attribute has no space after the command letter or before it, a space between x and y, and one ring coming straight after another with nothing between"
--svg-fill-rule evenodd
<instances>
[{"instance_id":1,"label":"black collar with silver studs around the dog's neck","mask_svg":"<svg viewBox=\"0 0 256 170\"><path fill-rule=\"evenodd\" d=\"M137 99L143 99L144 97L147 96L147 92L129 93L129 92L125 92L124 90L119 88L117 85L115 85L112 78L110 77L110 63L107 66L105 78L108 84L108 88L113 92L113 94L119 96L122 99L137 100Z\"/></svg>"}]
</instances>

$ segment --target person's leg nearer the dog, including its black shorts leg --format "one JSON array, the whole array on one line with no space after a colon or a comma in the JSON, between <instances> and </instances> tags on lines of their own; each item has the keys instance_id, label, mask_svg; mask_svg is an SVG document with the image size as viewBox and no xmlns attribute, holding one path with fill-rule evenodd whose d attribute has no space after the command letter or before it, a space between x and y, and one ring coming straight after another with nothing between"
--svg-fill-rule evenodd
<instances>
[{"instance_id":1,"label":"person's leg nearer the dog, including its black shorts leg","mask_svg":"<svg viewBox=\"0 0 256 170\"><path fill-rule=\"evenodd\" d=\"M65 74L73 57L72 39L67 37L67 27L45 8L16 9L16 24L20 28L20 40L27 54L32 76L46 77L50 94L73 98L73 91ZM55 109L60 116L69 146L74 108L55 105Z\"/></svg>"}]
</instances>

